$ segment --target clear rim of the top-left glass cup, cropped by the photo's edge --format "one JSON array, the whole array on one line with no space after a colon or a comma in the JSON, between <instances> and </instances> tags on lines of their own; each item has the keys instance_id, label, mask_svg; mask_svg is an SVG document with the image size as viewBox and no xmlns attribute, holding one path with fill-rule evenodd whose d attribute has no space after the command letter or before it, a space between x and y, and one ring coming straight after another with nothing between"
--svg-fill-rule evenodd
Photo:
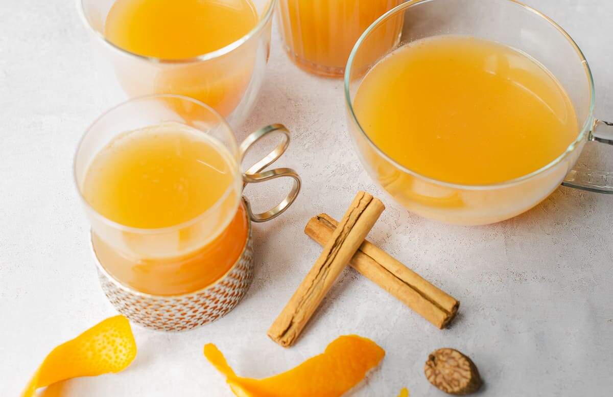
<instances>
[{"instance_id":1,"label":"clear rim of the top-left glass cup, cropped by the photo's edge","mask_svg":"<svg viewBox=\"0 0 613 397\"><path fill-rule=\"evenodd\" d=\"M174 59L158 58L155 56L147 56L147 55L139 55L137 53L128 51L124 48L119 47L118 45L113 44L112 42L107 40L106 37L104 37L104 34L101 34L101 32L97 31L91 25L91 23L89 23L88 18L85 16L85 6L83 4L84 0L76 0L76 1L77 1L78 13L81 17L83 25L85 25L89 29L89 31L96 37L97 40L102 42L104 45L107 45L107 47L111 48L112 50L118 51L124 55L134 56L135 58L142 59L143 61L148 61L148 62L152 62L155 64L191 64L195 62L210 61L211 59L219 58L220 56L226 55L227 53L234 51L238 47L241 47L244 43L248 42L251 39L251 37L261 32L262 29L264 29L264 26L267 25L268 21L270 21L270 18L272 17L273 10L275 9L274 6L277 0L268 1L268 9L265 11L264 16L260 18L256 26L253 27L253 29L247 32L245 36L240 37L240 39L235 40L232 43L229 43L225 47L218 48L215 51L210 51L208 53L204 53L199 56L192 56L191 58L174 58Z\"/></svg>"}]
</instances>

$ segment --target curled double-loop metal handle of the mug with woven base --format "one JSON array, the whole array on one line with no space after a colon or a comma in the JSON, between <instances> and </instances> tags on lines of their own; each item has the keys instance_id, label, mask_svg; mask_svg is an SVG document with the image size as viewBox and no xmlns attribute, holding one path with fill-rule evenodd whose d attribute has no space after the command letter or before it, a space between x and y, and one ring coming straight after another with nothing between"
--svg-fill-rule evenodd
<instances>
[{"instance_id":1,"label":"curled double-loop metal handle of the mug with woven base","mask_svg":"<svg viewBox=\"0 0 613 397\"><path fill-rule=\"evenodd\" d=\"M245 186L247 186L249 183L262 183L275 178L292 178L292 188L280 203L275 205L273 208L270 208L270 210L259 214L253 213L251 210L251 203L249 203L249 200L243 196L247 214L253 222L270 221L270 219L275 219L275 217L283 214L284 211L286 211L287 208L294 203L294 200L296 197L298 197L300 192L300 176L291 168L275 168L273 170L262 171L264 168L267 168L269 165L273 164L281 156L283 156L283 153L285 153L287 150L287 146L289 146L289 130L287 130L283 124L271 124L270 126L262 127L261 129L249 134L238 148L240 161L243 161L245 154L256 142L271 134L280 134L281 142L278 143L278 145L276 145L275 148L270 151L270 153L264 156L264 158L257 161L256 164L252 165L248 168L248 170L243 172L243 189L245 189Z\"/></svg>"}]
</instances>

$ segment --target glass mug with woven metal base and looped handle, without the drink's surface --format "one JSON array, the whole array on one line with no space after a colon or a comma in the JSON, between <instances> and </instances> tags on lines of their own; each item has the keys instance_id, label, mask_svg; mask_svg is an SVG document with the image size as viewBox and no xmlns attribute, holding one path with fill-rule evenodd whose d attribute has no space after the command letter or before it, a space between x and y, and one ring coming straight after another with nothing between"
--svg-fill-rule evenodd
<instances>
[{"instance_id":1,"label":"glass mug with woven metal base and looped handle, without the drink's surface","mask_svg":"<svg viewBox=\"0 0 613 397\"><path fill-rule=\"evenodd\" d=\"M123 132L165 123L180 123L207 134L207 140L213 138L231 157L227 161L232 183L207 210L169 227L129 227L99 213L85 194L94 158ZM261 138L271 136L281 138L280 143L242 172L243 156ZM300 191L300 178L294 170L262 171L281 157L287 145L289 132L273 124L253 132L238 146L219 113L195 99L169 94L129 100L94 121L78 145L74 177L91 223L102 288L116 309L145 327L184 330L234 308L253 275L251 221L265 222L279 216ZM283 177L292 179L289 194L270 210L253 213L242 197L246 184Z\"/></svg>"}]
</instances>

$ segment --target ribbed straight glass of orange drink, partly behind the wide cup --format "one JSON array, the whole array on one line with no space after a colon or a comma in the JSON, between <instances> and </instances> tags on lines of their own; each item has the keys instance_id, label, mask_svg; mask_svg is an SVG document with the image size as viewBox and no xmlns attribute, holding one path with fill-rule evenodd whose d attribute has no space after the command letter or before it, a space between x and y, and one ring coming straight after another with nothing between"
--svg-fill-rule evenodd
<instances>
[{"instance_id":1,"label":"ribbed straight glass of orange drink, partly behind the wide cup","mask_svg":"<svg viewBox=\"0 0 613 397\"><path fill-rule=\"evenodd\" d=\"M280 0L277 18L287 55L308 72L340 77L360 34L405 0ZM378 45L392 46L402 25L379 31Z\"/></svg>"}]
</instances>

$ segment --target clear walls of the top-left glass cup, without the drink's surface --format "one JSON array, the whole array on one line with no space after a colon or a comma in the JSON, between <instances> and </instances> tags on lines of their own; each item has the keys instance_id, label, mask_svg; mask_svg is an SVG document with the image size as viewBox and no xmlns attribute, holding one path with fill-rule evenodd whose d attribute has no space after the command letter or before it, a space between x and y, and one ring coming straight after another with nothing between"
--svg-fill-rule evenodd
<instances>
[{"instance_id":1,"label":"clear walls of the top-left glass cup, without the drink's surface","mask_svg":"<svg viewBox=\"0 0 613 397\"><path fill-rule=\"evenodd\" d=\"M275 0L253 0L259 21L248 34L189 59L142 56L105 39L105 21L114 2L79 0L78 6L93 36L103 89L113 102L148 94L178 94L210 105L233 127L245 121L264 81Z\"/></svg>"}]
</instances>

